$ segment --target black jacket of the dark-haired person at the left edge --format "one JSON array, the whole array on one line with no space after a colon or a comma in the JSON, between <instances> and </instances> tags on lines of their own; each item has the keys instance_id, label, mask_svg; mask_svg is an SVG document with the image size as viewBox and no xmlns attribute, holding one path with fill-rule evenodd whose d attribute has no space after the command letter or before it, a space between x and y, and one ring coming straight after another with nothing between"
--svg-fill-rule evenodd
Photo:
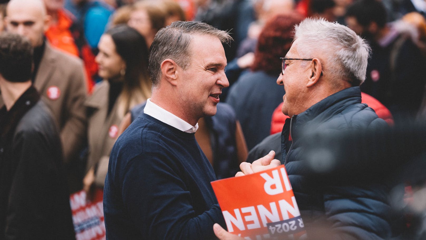
<instances>
[{"instance_id":1,"label":"black jacket of the dark-haired person at the left edge","mask_svg":"<svg viewBox=\"0 0 426 240\"><path fill-rule=\"evenodd\" d=\"M0 109L0 239L75 239L62 171L55 122L30 87Z\"/></svg>"}]
</instances>

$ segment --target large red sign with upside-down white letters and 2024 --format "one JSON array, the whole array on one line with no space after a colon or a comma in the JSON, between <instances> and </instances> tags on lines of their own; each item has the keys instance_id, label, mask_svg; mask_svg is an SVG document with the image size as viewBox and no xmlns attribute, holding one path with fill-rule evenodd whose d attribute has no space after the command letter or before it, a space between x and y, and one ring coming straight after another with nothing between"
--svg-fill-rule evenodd
<instances>
[{"instance_id":1,"label":"large red sign with upside-down white letters and 2024","mask_svg":"<svg viewBox=\"0 0 426 240\"><path fill-rule=\"evenodd\" d=\"M259 173L211 182L232 234L247 240L306 237L283 165Z\"/></svg>"}]
</instances>

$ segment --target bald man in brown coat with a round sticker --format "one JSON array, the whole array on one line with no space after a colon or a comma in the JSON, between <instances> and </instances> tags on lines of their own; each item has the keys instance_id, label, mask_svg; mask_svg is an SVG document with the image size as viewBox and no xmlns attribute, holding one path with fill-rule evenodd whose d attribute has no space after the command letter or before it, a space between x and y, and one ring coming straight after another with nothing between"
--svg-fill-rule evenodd
<instances>
[{"instance_id":1,"label":"bald man in brown coat with a round sticker","mask_svg":"<svg viewBox=\"0 0 426 240\"><path fill-rule=\"evenodd\" d=\"M7 31L25 36L34 47L32 82L60 129L69 187L74 192L82 187L81 170L84 169L78 156L86 133L83 107L87 92L85 76L80 59L53 49L45 41L44 32L49 21L50 16L46 15L41 0L11 0L6 7ZM2 105L3 102L0 102L0 107Z\"/></svg>"}]
</instances>

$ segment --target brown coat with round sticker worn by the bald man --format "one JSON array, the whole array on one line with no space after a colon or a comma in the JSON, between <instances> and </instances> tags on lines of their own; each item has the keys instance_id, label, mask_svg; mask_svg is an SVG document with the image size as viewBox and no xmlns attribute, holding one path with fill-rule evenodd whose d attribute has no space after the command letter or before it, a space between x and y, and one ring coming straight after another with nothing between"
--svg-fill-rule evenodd
<instances>
[{"instance_id":1,"label":"brown coat with round sticker worn by the bald man","mask_svg":"<svg viewBox=\"0 0 426 240\"><path fill-rule=\"evenodd\" d=\"M65 162L78 156L86 136L84 74L81 59L53 49L46 42L34 87L58 124ZM0 107L2 105L0 98Z\"/></svg>"}]
</instances>

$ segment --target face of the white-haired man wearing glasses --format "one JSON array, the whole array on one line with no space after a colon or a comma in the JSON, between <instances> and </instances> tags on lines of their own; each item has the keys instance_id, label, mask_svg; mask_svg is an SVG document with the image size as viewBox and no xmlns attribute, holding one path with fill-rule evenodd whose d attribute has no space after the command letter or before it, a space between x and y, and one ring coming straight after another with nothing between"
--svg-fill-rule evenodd
<instances>
[{"instance_id":1,"label":"face of the white-haired man wearing glasses","mask_svg":"<svg viewBox=\"0 0 426 240\"><path fill-rule=\"evenodd\" d=\"M286 58L300 59L305 56L300 56L297 51L297 42L294 41L288 53L285 55ZM303 108L306 97L305 83L309 76L308 61L302 60L286 60L284 74L280 74L276 83L284 85L285 94L282 97L282 113L287 116L293 116L305 111Z\"/></svg>"}]
</instances>

